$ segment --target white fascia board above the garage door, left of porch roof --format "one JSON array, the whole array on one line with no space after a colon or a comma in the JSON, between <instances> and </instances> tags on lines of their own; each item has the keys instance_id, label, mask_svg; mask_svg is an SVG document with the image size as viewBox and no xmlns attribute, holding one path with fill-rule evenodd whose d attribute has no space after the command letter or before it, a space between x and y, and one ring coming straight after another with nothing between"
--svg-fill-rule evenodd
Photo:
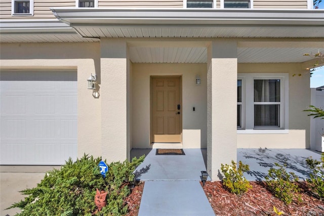
<instances>
[{"instance_id":1,"label":"white fascia board above the garage door, left of porch roof","mask_svg":"<svg viewBox=\"0 0 324 216\"><path fill-rule=\"evenodd\" d=\"M0 33L20 33L20 32L69 32L74 30L72 27L57 19L53 20L2 20L0 22Z\"/></svg>"}]
</instances>

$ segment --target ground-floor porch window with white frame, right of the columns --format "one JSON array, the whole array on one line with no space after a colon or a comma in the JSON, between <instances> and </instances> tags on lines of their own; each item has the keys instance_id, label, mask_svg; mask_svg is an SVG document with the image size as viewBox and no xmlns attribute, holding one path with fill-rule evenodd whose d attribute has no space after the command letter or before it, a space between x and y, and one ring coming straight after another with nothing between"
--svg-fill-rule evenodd
<instances>
[{"instance_id":1,"label":"ground-floor porch window with white frame, right of the columns","mask_svg":"<svg viewBox=\"0 0 324 216\"><path fill-rule=\"evenodd\" d=\"M237 129L286 129L287 127L288 75L239 74Z\"/></svg>"}]
</instances>

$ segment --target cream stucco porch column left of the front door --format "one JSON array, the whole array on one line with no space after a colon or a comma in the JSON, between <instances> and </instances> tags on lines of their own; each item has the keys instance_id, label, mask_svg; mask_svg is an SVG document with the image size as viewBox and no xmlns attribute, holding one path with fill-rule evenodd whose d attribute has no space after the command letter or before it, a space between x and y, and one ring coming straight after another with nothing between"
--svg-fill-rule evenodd
<instances>
[{"instance_id":1,"label":"cream stucco porch column left of the front door","mask_svg":"<svg viewBox=\"0 0 324 216\"><path fill-rule=\"evenodd\" d=\"M101 39L100 49L102 158L124 161L130 158L127 43Z\"/></svg>"}]
</instances>

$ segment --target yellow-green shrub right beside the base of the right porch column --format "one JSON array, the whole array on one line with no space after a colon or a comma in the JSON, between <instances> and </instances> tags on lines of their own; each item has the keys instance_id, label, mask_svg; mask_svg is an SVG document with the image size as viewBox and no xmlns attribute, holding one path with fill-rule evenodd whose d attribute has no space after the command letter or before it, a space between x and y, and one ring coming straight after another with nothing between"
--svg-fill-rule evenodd
<instances>
[{"instance_id":1,"label":"yellow-green shrub right beside the base of the right porch column","mask_svg":"<svg viewBox=\"0 0 324 216\"><path fill-rule=\"evenodd\" d=\"M236 163L232 160L232 165L221 164L221 170L223 175L223 186L231 193L241 196L245 192L252 188L249 181L243 176L244 172L250 170L249 165L238 162L238 168Z\"/></svg>"}]
</instances>

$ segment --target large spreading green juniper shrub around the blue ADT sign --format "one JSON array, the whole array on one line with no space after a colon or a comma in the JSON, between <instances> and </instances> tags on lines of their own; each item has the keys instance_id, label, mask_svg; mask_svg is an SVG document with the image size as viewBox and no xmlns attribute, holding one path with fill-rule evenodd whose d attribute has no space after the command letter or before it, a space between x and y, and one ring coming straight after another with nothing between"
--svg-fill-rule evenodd
<instances>
[{"instance_id":1,"label":"large spreading green juniper shrub around the blue ADT sign","mask_svg":"<svg viewBox=\"0 0 324 216\"><path fill-rule=\"evenodd\" d=\"M130 194L133 171L143 160L144 156L132 162L113 162L103 178L98 166L101 158L85 155L75 162L69 159L60 170L49 171L36 188L22 191L29 196L10 208L22 208L17 215L93 215L97 212L94 198L98 188L108 194L107 205L96 215L125 214L124 198Z\"/></svg>"}]
</instances>

